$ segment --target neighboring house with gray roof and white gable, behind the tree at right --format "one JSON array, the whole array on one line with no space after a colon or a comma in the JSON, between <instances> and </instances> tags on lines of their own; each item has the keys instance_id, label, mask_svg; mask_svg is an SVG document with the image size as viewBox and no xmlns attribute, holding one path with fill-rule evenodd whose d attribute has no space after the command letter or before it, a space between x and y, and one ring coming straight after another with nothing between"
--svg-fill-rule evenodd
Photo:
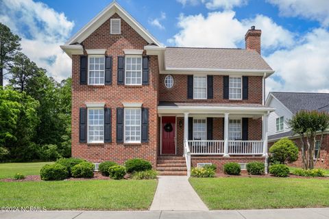
<instances>
[{"instance_id":1,"label":"neighboring house with gray roof and white gable, behind the tree at right","mask_svg":"<svg viewBox=\"0 0 329 219\"><path fill-rule=\"evenodd\" d=\"M302 144L300 136L291 131L287 120L291 119L300 110L318 110L319 112L329 112L329 94L307 93L307 92L270 92L267 96L266 105L276 110L269 114L268 142L269 146L281 138L289 138L299 147ZM319 140L320 134L317 136ZM318 168L329 168L329 130L324 133L324 140L319 141L315 147L315 157L319 153L319 159L315 164ZM302 155L300 153L293 166L302 166Z\"/></svg>"}]
</instances>

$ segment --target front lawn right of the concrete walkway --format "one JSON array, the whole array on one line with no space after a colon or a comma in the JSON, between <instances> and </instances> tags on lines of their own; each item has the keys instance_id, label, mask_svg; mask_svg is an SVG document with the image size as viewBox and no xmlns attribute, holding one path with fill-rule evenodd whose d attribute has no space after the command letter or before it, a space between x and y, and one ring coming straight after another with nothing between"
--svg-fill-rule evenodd
<instances>
[{"instance_id":1,"label":"front lawn right of the concrete walkway","mask_svg":"<svg viewBox=\"0 0 329 219\"><path fill-rule=\"evenodd\" d=\"M329 180L297 178L191 178L209 209L328 207Z\"/></svg>"}]
</instances>

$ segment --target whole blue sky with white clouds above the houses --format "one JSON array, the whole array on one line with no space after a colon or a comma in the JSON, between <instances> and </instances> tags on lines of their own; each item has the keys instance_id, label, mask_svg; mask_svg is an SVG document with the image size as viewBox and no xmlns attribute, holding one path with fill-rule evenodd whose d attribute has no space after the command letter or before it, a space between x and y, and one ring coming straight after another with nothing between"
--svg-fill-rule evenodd
<instances>
[{"instance_id":1,"label":"whole blue sky with white clouds above the houses","mask_svg":"<svg viewBox=\"0 0 329 219\"><path fill-rule=\"evenodd\" d=\"M64 79L71 60L60 44L110 0L1 0L0 22L22 37L23 51ZM262 55L276 73L269 90L329 92L327 0L117 0L162 44L245 47L251 25L262 29Z\"/></svg>"}]
</instances>

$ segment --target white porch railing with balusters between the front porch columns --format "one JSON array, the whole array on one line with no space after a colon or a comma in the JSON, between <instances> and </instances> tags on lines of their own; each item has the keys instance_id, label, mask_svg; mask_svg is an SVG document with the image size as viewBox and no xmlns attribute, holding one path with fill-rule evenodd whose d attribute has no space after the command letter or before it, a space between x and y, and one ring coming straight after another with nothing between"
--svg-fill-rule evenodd
<instances>
[{"instance_id":1,"label":"white porch railing with balusters between the front porch columns","mask_svg":"<svg viewBox=\"0 0 329 219\"><path fill-rule=\"evenodd\" d=\"M188 140L191 155L223 155L223 140ZM185 150L186 141L184 141ZM228 141L229 155L263 155L263 140L230 140Z\"/></svg>"}]
</instances>

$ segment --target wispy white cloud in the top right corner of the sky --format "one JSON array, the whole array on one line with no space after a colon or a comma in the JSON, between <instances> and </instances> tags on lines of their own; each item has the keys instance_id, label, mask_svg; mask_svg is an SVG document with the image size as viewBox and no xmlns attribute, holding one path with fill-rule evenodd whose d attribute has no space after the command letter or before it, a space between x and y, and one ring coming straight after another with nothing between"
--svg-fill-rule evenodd
<instances>
[{"instance_id":1,"label":"wispy white cloud in the top right corner of the sky","mask_svg":"<svg viewBox=\"0 0 329 219\"><path fill-rule=\"evenodd\" d=\"M282 16L304 16L322 25L329 25L328 0L267 0L277 5Z\"/></svg>"}]
</instances>

